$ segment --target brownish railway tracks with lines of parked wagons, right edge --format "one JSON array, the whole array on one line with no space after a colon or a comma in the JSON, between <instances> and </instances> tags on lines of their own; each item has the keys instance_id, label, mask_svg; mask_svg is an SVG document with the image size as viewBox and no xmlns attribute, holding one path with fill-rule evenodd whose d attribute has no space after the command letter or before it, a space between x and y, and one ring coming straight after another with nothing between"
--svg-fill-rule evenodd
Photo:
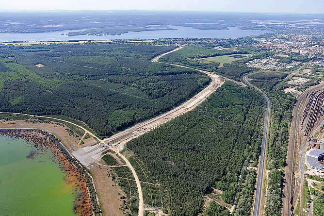
<instances>
[{"instance_id":1,"label":"brownish railway tracks with lines of parked wagons, right edge","mask_svg":"<svg viewBox=\"0 0 324 216\"><path fill-rule=\"evenodd\" d=\"M292 112L292 123L290 128L290 138L287 150L287 159L285 167L284 189L283 189L283 208L282 216L292 215L292 206L296 204L298 195L303 195L302 187L304 180L304 163L299 163L299 177L296 179L296 185L292 185L293 167L295 163L295 150L299 154L304 154L305 146L307 145L307 135L318 122L318 115L323 116L324 109L320 107L321 100L323 106L324 93L318 92L318 89L324 85L317 85L306 90L297 100ZM316 92L312 93L312 92ZM316 96L315 96L316 95ZM315 111L314 111L315 110ZM310 115L311 114L311 115ZM308 120L310 119L310 120ZM304 122L307 122L304 127ZM303 130L304 129L304 130ZM298 149L295 149L297 147ZM292 191L292 186L295 190ZM301 199L302 200L302 199ZM302 205L301 205L302 207ZM301 211L300 211L301 212Z\"/></svg>"}]
</instances>

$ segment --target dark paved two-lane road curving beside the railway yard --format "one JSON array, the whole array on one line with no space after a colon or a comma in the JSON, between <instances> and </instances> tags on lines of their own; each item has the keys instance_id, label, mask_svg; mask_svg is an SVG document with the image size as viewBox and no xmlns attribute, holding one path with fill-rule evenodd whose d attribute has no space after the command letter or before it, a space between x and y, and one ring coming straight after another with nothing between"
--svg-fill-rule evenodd
<instances>
[{"instance_id":1,"label":"dark paved two-lane road curving beside the railway yard","mask_svg":"<svg viewBox=\"0 0 324 216\"><path fill-rule=\"evenodd\" d=\"M243 77L243 81L248 85L254 87L255 89L259 90L265 97L267 101L267 109L265 112L265 121L264 121L264 130L263 130L263 139L262 139L262 146L261 146L261 155L260 155L260 163L259 163L259 171L258 171L258 179L257 179L257 190L255 193L254 204L253 204L253 212L252 216L259 216L260 208L261 208L261 199L262 199L262 191L263 191L263 179L264 179L264 159L265 159L265 151L267 146L267 139L268 139L268 129L269 129L269 119L270 119L270 100L263 91L261 91L256 86L252 85L251 83L246 80L247 76L252 73L246 74Z\"/></svg>"}]
</instances>

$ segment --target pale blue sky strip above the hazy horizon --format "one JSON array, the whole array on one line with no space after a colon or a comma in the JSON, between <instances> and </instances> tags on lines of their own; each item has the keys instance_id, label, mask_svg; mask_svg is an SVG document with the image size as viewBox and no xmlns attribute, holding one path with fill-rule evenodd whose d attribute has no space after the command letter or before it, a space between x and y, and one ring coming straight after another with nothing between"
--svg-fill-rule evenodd
<instances>
[{"instance_id":1,"label":"pale blue sky strip above the hazy horizon","mask_svg":"<svg viewBox=\"0 0 324 216\"><path fill-rule=\"evenodd\" d=\"M324 0L3 0L0 8L324 14Z\"/></svg>"}]
</instances>

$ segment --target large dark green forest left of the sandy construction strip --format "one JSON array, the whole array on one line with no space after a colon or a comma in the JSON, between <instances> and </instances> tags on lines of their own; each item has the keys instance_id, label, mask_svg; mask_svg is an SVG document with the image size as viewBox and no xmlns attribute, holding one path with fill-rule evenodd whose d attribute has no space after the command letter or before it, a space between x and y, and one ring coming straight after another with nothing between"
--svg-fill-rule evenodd
<instances>
[{"instance_id":1,"label":"large dark green forest left of the sandy construction strip","mask_svg":"<svg viewBox=\"0 0 324 216\"><path fill-rule=\"evenodd\" d=\"M99 136L170 110L211 81L150 61L175 47L114 41L1 48L1 112L64 115Z\"/></svg>"}]
</instances>

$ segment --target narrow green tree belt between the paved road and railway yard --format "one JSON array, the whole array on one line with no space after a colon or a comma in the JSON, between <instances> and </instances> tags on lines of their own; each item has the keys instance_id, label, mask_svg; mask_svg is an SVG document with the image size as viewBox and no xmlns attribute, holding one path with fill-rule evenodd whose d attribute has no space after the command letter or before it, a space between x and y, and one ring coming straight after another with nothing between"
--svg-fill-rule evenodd
<instances>
[{"instance_id":1,"label":"narrow green tree belt between the paved road and railway yard","mask_svg":"<svg viewBox=\"0 0 324 216\"><path fill-rule=\"evenodd\" d=\"M281 73L280 73L281 74ZM283 173L279 167L286 166L290 124L292 110L296 98L282 90L287 83L275 79L282 78L274 73L259 73L249 75L258 80L249 81L258 86L269 97L271 103L271 126L267 144L267 169L271 170L268 175L268 195L266 201L266 215L281 215Z\"/></svg>"}]
</instances>

